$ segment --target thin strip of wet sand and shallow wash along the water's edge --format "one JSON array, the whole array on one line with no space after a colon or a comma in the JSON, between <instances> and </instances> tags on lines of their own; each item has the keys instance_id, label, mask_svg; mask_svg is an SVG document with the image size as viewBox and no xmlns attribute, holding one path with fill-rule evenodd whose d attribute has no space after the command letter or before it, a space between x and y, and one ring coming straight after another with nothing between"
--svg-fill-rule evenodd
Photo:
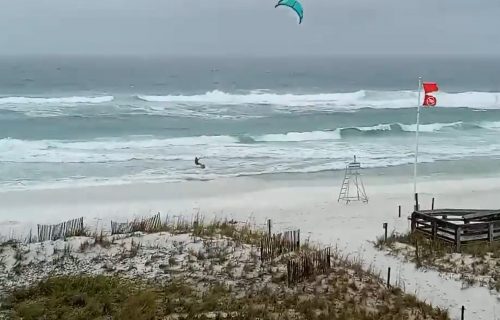
<instances>
[{"instance_id":1,"label":"thin strip of wet sand and shallow wash along the water's edge","mask_svg":"<svg viewBox=\"0 0 500 320\"><path fill-rule=\"evenodd\" d=\"M358 158L359 159L359 158ZM413 164L398 164L388 165L383 167L363 167L363 159L359 159L362 165L362 175L367 178L374 179L375 183L386 183L383 178L396 180L400 183L413 183ZM470 178L487 178L491 176L500 177L500 165L498 165L496 157L470 157L459 160L437 160L433 162L421 162L418 164L419 180L427 181L430 179L446 179L460 180L464 177ZM347 164L347 163L346 163ZM210 168L208 168L210 170ZM43 190L64 190L64 189L80 189L80 188L96 188L96 187L121 187L126 185L153 185L153 184L185 184L185 183L210 183L216 181L255 179L265 181L300 181L316 182L316 181L331 181L332 179L341 179L344 175L342 169L325 169L315 172L265 172L265 173L248 173L241 175L228 176L210 176L203 177L205 171L200 171L202 178L184 178L177 180L169 180L162 178L151 177L151 179L131 180L130 177L114 177L100 178L95 177L94 181L85 180L62 180L35 182L34 184L23 185L14 183L3 185L0 187L0 195L11 192L24 191L43 191ZM208 172L208 171L207 171ZM83 181L83 182L82 182Z\"/></svg>"}]
</instances>

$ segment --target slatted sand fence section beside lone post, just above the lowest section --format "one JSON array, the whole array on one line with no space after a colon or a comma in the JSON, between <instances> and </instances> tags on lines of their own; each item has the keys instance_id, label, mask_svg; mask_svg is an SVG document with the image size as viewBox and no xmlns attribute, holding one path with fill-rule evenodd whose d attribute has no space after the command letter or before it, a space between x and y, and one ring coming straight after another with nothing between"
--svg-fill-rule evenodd
<instances>
[{"instance_id":1,"label":"slatted sand fence section beside lone post, just above the lowest section","mask_svg":"<svg viewBox=\"0 0 500 320\"><path fill-rule=\"evenodd\" d=\"M300 230L266 236L260 241L260 260L269 261L300 249Z\"/></svg>"}]
</instances>

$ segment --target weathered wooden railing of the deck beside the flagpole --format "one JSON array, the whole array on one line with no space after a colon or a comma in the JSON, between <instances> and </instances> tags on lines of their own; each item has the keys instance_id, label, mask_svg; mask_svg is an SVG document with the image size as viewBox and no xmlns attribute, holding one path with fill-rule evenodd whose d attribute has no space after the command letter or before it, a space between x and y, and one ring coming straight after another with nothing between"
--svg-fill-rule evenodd
<instances>
[{"instance_id":1,"label":"weathered wooden railing of the deck beside the flagpole","mask_svg":"<svg viewBox=\"0 0 500 320\"><path fill-rule=\"evenodd\" d=\"M488 218L490 217L490 218ZM411 215L411 231L420 232L433 240L442 240L460 251L462 245L485 241L500 241L500 220L494 211L422 210ZM492 220L495 219L495 220Z\"/></svg>"}]
</instances>

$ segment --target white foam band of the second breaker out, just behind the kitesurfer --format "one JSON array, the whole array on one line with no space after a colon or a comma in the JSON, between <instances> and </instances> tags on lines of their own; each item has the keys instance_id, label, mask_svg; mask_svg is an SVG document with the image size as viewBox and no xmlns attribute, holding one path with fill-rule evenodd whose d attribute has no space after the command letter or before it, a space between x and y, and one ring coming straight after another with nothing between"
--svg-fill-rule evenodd
<instances>
[{"instance_id":1,"label":"white foam band of the second breaker out, just behind the kitesurfer","mask_svg":"<svg viewBox=\"0 0 500 320\"><path fill-rule=\"evenodd\" d=\"M446 129L462 130L462 122L431 123L420 125L421 132L438 132ZM478 125L478 128L481 126ZM499 130L500 122L482 123L482 128ZM325 131L273 133L255 136L191 136L176 138L157 138L154 136L101 138L89 141L72 140L19 140L0 139L0 161L7 162L49 162L49 163L92 163L120 162L131 160L189 160L193 152L206 152L207 148L216 150L235 150L241 154L252 156L257 145L263 145L266 152L267 143L294 143L300 147L301 142L328 143L356 137L356 130L361 132L414 132L414 124L378 124L364 127L346 127ZM351 131L351 130L354 130ZM465 128L466 130L466 128ZM392 133L391 133L392 134ZM365 138L364 138L365 139ZM366 138L370 142L370 138ZM257 145L255 145L257 143ZM373 143L380 143L374 141ZM253 145L253 146L251 146ZM230 149L231 148L231 149ZM239 149L236 149L239 148ZM246 151L250 150L248 153ZM179 151L184 156L176 155ZM258 156L258 153L255 154Z\"/></svg>"}]
</instances>

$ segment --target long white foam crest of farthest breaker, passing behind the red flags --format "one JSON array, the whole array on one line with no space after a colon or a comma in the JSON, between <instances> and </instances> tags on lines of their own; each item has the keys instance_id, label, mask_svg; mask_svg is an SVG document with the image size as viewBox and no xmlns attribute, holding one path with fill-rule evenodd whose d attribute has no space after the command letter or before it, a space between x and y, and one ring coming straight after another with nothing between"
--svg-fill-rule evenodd
<instances>
[{"instance_id":1,"label":"long white foam crest of farthest breaker, passing behind the red flags","mask_svg":"<svg viewBox=\"0 0 500 320\"><path fill-rule=\"evenodd\" d=\"M498 92L437 92L438 107L468 107L478 109L500 108ZM278 94L252 91L247 94L231 94L215 90L199 95L139 95L148 102L171 104L269 104L286 107L336 107L337 109L359 108L414 108L417 104L416 91L370 91L359 90L347 93L320 94ZM335 108L334 108L335 109Z\"/></svg>"}]
</instances>

